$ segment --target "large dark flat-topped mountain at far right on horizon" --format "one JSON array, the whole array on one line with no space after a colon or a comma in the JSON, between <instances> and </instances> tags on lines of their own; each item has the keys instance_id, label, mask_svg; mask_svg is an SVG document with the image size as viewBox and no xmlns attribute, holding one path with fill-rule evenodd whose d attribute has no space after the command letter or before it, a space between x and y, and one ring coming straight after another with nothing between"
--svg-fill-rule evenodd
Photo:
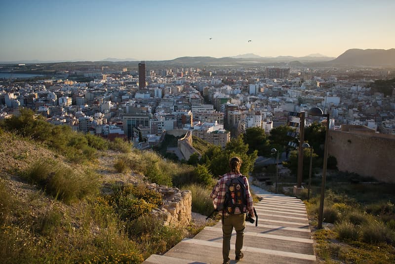
<instances>
[{"instance_id":1,"label":"large dark flat-topped mountain at far right on horizon","mask_svg":"<svg viewBox=\"0 0 395 264\"><path fill-rule=\"evenodd\" d=\"M328 63L336 66L395 67L395 48L346 50Z\"/></svg>"}]
</instances>

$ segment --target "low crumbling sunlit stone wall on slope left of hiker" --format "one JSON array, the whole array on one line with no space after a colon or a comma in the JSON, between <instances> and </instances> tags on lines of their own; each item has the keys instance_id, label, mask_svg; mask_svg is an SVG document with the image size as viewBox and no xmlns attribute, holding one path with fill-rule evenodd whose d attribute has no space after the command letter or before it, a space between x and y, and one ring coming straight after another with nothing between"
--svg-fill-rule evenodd
<instances>
[{"instance_id":1,"label":"low crumbling sunlit stone wall on slope left of hiker","mask_svg":"<svg viewBox=\"0 0 395 264\"><path fill-rule=\"evenodd\" d=\"M176 187L167 187L151 183L150 189L156 189L163 196L163 205L152 210L151 214L163 221L164 225L186 226L192 220L192 192L181 191Z\"/></svg>"}]
</instances>

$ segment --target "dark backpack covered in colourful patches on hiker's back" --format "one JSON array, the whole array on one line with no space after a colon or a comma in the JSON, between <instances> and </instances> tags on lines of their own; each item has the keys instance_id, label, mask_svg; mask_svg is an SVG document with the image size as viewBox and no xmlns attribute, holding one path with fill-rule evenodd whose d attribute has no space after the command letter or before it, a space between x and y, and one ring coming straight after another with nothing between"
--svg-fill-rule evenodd
<instances>
[{"instance_id":1,"label":"dark backpack covered in colourful patches on hiker's back","mask_svg":"<svg viewBox=\"0 0 395 264\"><path fill-rule=\"evenodd\" d=\"M229 179L225 186L225 201L219 206L218 211L222 210L230 215L247 212L247 199L245 197L244 176Z\"/></svg>"}]
</instances>

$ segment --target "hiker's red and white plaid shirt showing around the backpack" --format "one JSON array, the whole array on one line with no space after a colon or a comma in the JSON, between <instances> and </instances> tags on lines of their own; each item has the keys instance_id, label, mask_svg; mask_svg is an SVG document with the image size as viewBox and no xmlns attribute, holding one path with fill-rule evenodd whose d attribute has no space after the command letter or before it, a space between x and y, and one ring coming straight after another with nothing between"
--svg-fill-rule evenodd
<instances>
[{"instance_id":1,"label":"hiker's red and white plaid shirt showing around the backpack","mask_svg":"<svg viewBox=\"0 0 395 264\"><path fill-rule=\"evenodd\" d=\"M227 173L224 174L215 184L213 191L210 194L210 197L213 198L213 204L214 204L214 209L217 209L217 207L225 202L225 194L226 194L226 182L231 179L231 178L236 178L241 176L241 174L234 174L234 173ZM244 185L245 185L245 196L247 200L247 211L252 210L253 207L253 202L252 202L252 196L250 193L250 187L248 184L248 179L247 177L243 176L244 180Z\"/></svg>"}]
</instances>

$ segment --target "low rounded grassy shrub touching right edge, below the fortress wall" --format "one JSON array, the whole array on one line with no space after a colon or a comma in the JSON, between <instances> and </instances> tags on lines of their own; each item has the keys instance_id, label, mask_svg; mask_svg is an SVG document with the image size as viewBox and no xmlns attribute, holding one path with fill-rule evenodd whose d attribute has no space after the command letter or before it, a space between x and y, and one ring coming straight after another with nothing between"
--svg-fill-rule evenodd
<instances>
[{"instance_id":1,"label":"low rounded grassy shrub touching right edge, below the fortress wall","mask_svg":"<svg viewBox=\"0 0 395 264\"><path fill-rule=\"evenodd\" d=\"M387 242L394 244L395 233L384 223L379 221L369 221L361 226L362 241L366 243L376 244Z\"/></svg>"}]
</instances>

